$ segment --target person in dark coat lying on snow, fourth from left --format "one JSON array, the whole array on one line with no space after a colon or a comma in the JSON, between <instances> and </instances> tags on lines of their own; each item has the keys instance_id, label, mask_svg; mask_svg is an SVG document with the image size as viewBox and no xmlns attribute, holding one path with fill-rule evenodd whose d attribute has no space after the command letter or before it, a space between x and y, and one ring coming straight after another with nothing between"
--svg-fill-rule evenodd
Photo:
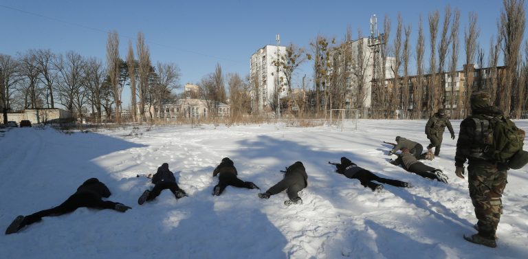
<instances>
[{"instance_id":1,"label":"person in dark coat lying on snow, fourth from left","mask_svg":"<svg viewBox=\"0 0 528 259\"><path fill-rule=\"evenodd\" d=\"M300 199L298 192L307 186L308 174L305 166L302 162L296 161L292 166L286 168L284 178L266 192L259 193L259 198L270 199L270 196L286 190L289 200L284 202L285 205L302 204L303 200Z\"/></svg>"}]
</instances>

